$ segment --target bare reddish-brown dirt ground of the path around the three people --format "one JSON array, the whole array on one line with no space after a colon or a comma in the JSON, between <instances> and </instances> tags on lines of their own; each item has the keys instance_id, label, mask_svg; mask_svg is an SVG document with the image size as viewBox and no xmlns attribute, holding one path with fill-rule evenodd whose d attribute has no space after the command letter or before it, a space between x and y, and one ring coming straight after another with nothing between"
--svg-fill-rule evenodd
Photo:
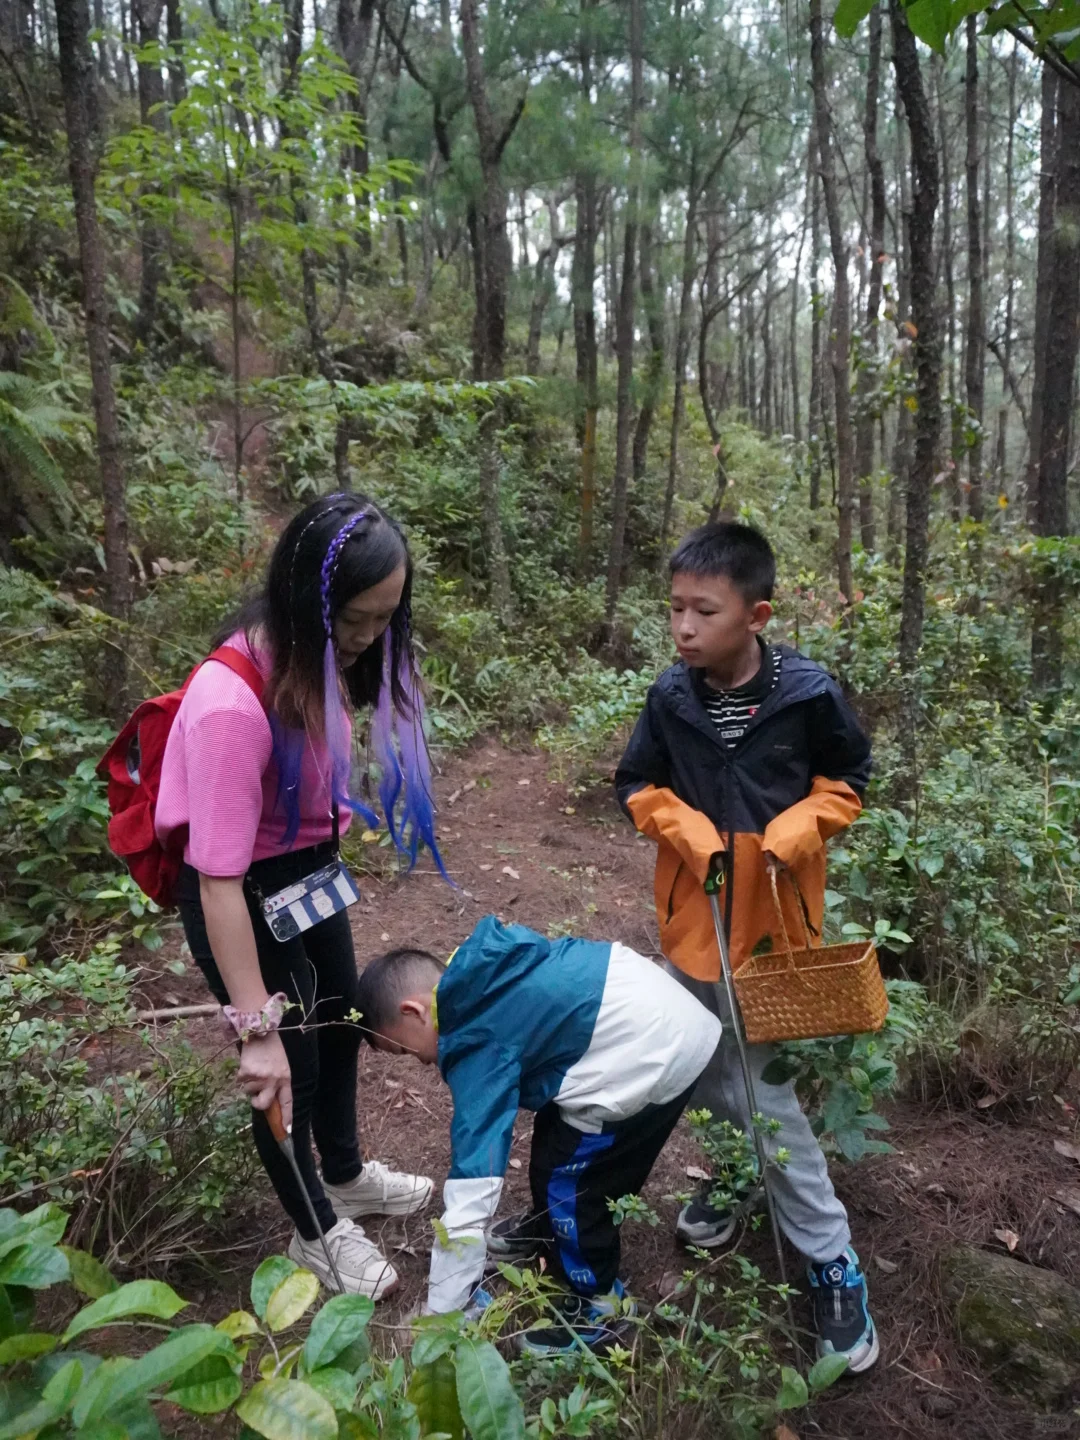
<instances>
[{"instance_id":1,"label":"bare reddish-brown dirt ground of the path around the three people","mask_svg":"<svg viewBox=\"0 0 1080 1440\"><path fill-rule=\"evenodd\" d=\"M635 837L609 785L580 793L543 752L490 740L454 756L436 783L444 854L461 890L448 888L428 860L409 877L363 881L364 899L353 912L361 965L400 945L449 955L490 912L541 933L622 940L657 953L652 847ZM176 953L171 945L170 952ZM158 972L144 995L157 1004L206 998L193 968L181 978ZM219 1048L216 1021L189 1021L186 1032L200 1048ZM989 1377L958 1345L937 1287L942 1251L953 1241L1001 1251L995 1230L1015 1234L1017 1259L1080 1283L1080 1217L1051 1198L1077 1178L1076 1162L1056 1153L1053 1145L1071 1128L1051 1115L1017 1122L992 1110L953 1107L946 1099L906 1099L887 1113L894 1153L834 1166L870 1280L881 1358L868 1375L841 1381L809 1411L793 1416L793 1431L828 1440L1022 1440L1051 1428L1054 1434L1080 1434L1080 1423L1066 1416L1040 1417L992 1388ZM451 1106L433 1067L364 1047L359 1115L373 1158L432 1175L441 1187L449 1159ZM503 1201L505 1214L528 1202L528 1116L523 1115ZM694 1188L687 1166L697 1164L700 1156L683 1123L645 1189L665 1224L624 1230L624 1272L645 1303L657 1300L664 1274L693 1263L674 1241L677 1204L665 1197ZM383 1227L369 1223L369 1233L402 1276L400 1289L380 1308L387 1323L423 1296L429 1218ZM177 1287L206 1318L217 1319L245 1303L253 1266L284 1250L288 1234L281 1211L269 1200L252 1198L252 1211L235 1217L236 1244L229 1253L174 1277ZM765 1234L749 1237L747 1253L773 1277L775 1257ZM791 1254L788 1263L798 1283L798 1257ZM808 1322L804 1303L796 1306L796 1318Z\"/></svg>"}]
</instances>

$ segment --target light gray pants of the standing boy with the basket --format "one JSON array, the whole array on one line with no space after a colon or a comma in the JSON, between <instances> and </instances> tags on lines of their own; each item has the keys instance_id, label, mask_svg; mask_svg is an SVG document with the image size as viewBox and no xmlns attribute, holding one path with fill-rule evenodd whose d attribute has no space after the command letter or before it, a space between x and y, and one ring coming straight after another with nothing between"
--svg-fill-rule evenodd
<instances>
[{"instance_id":1,"label":"light gray pants of the standing boy with the basket","mask_svg":"<svg viewBox=\"0 0 1080 1440\"><path fill-rule=\"evenodd\" d=\"M717 986L707 981L694 981L670 962L665 963L671 975L691 995L720 1017L724 1027L720 1044L701 1071L690 1103L697 1109L711 1110L716 1120L730 1120L749 1132L750 1110L723 982ZM780 1122L780 1130L769 1140L769 1146L776 1149L783 1145L791 1151L786 1166L772 1172L776 1218L788 1240L808 1260L835 1260L851 1243L848 1214L832 1189L825 1156L802 1113L795 1086L791 1081L766 1084L762 1080L762 1071L773 1054L772 1045L747 1045L757 1109L766 1119Z\"/></svg>"}]
</instances>

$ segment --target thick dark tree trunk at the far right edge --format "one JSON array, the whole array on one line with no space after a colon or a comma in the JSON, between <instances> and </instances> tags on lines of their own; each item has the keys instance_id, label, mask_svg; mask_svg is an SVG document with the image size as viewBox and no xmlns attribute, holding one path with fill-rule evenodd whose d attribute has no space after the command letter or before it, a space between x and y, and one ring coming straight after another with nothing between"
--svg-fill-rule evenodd
<instances>
[{"instance_id":1,"label":"thick dark tree trunk at the far right edge","mask_svg":"<svg viewBox=\"0 0 1080 1440\"><path fill-rule=\"evenodd\" d=\"M1068 446L1080 350L1080 85L1058 82L1054 229L1050 251L1050 317L1038 436L1040 536L1068 534ZM1041 582L1031 634L1031 674L1040 691L1061 688L1064 592L1054 575Z\"/></svg>"}]
</instances>

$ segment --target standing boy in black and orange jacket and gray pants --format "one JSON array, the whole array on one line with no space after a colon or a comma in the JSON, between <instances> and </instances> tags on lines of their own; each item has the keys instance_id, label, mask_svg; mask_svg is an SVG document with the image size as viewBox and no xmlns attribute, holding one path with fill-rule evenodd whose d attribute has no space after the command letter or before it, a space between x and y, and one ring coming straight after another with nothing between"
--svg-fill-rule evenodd
<instances>
[{"instance_id":1,"label":"standing boy in black and orange jacket and gray pants","mask_svg":"<svg viewBox=\"0 0 1080 1440\"><path fill-rule=\"evenodd\" d=\"M615 783L634 824L657 841L664 955L724 1025L694 1103L749 1129L704 881L713 857L726 854L736 971L755 950L782 945L770 864L780 873L788 933L802 933L796 886L819 932L825 841L861 809L870 743L831 675L798 651L763 641L776 562L762 534L733 523L704 526L680 544L670 569L681 660L649 690ZM757 1103L780 1122L772 1143L791 1155L776 1172L773 1197L780 1228L809 1261L818 1351L847 1355L854 1372L868 1369L878 1342L847 1211L792 1084L762 1079L772 1048L750 1045L749 1053ZM696 1246L724 1244L736 1228L736 1215L711 1208L708 1197L706 1184L678 1218L680 1236Z\"/></svg>"}]
</instances>

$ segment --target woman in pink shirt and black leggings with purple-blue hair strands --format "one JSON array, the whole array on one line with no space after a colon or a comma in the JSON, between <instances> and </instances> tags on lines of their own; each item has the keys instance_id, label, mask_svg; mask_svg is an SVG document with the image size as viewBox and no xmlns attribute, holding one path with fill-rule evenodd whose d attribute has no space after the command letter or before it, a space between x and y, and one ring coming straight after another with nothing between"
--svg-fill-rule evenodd
<instances>
[{"instance_id":1,"label":"woman in pink shirt and black leggings with purple-blue hair strands","mask_svg":"<svg viewBox=\"0 0 1080 1440\"><path fill-rule=\"evenodd\" d=\"M315 893L321 909L297 930L287 916L279 923L284 912L274 912L274 900L275 929L287 935L279 939L265 906L287 887L292 894L301 881L333 873L337 835L353 812L379 821L348 786L350 714L363 706L373 707L379 799L395 842L415 858L425 841L442 868L410 592L405 537L370 500L336 494L301 511L274 550L262 593L217 641L255 664L262 696L229 667L202 665L168 736L156 814L161 838L187 829L180 917L240 1038L239 1081L251 1096L255 1143L297 1227L289 1254L333 1284L304 1197L269 1130L265 1112L275 1100L292 1125L300 1169L344 1286L374 1299L397 1276L356 1217L412 1214L428 1204L432 1182L364 1162L360 1151L348 912L331 913L341 901ZM348 888L343 877L337 891L347 897Z\"/></svg>"}]
</instances>

